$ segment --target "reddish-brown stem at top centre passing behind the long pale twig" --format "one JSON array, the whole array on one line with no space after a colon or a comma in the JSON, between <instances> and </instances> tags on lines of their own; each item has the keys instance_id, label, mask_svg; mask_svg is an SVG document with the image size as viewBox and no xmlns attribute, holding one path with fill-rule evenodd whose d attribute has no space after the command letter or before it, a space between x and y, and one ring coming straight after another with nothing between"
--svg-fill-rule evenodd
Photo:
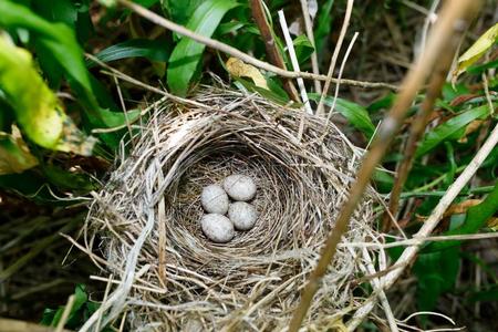
<instances>
[{"instance_id":1,"label":"reddish-brown stem at top centre passing behind the long pale twig","mask_svg":"<svg viewBox=\"0 0 498 332\"><path fill-rule=\"evenodd\" d=\"M273 31L268 23L267 15L264 14L264 10L261 3L262 0L250 0L250 7L252 12L252 18L258 25L259 32L261 33L261 38L264 41L264 48L267 50L268 60L271 64L286 70L286 63L283 62L282 54L280 54L277 43L273 38ZM289 96L299 102L298 91L295 90L294 84L290 79L283 80L283 89L286 89Z\"/></svg>"}]
</instances>

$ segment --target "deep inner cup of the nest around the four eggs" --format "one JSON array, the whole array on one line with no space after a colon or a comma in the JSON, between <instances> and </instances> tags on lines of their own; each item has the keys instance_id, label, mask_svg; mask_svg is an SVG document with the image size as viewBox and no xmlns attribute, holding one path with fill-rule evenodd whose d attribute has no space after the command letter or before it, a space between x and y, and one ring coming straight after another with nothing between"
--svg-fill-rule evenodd
<instances>
[{"instance_id":1,"label":"deep inner cup of the nest around the four eggs","mask_svg":"<svg viewBox=\"0 0 498 332\"><path fill-rule=\"evenodd\" d=\"M252 126L248 121L243 131L234 132L226 125L230 117L220 117L212 123L209 137L198 138L195 153L179 165L181 174L165 191L166 238L177 251L176 263L197 264L197 272L221 277L225 284L250 279L258 263L279 269L278 261L269 263L272 255L307 247L310 238L325 236L331 218L322 207L328 196L338 195L326 181L321 183L320 170L294 169L308 162L261 135L261 131L271 133L271 127ZM210 184L221 185L231 174L245 174L256 181L251 203L258 220L249 231L236 231L229 242L216 243L200 229L200 193Z\"/></svg>"}]
</instances>

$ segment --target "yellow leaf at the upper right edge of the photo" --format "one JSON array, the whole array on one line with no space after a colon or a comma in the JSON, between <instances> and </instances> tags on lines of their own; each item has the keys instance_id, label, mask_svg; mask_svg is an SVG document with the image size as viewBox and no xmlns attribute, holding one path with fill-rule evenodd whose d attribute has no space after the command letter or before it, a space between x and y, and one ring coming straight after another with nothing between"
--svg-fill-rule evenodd
<instances>
[{"instance_id":1,"label":"yellow leaf at the upper right edge of the photo","mask_svg":"<svg viewBox=\"0 0 498 332\"><path fill-rule=\"evenodd\" d=\"M453 72L452 82L455 83L456 79L465 72L471 64L480 59L497 41L498 39L498 23L489 28L479 39L458 58L458 66Z\"/></svg>"}]
</instances>

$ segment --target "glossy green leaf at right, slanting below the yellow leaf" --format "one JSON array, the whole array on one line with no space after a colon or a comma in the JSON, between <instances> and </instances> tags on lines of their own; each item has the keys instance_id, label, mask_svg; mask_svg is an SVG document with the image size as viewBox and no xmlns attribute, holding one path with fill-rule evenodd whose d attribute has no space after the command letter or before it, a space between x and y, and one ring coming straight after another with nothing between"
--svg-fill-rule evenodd
<instances>
[{"instance_id":1,"label":"glossy green leaf at right, slanting below the yellow leaf","mask_svg":"<svg viewBox=\"0 0 498 332\"><path fill-rule=\"evenodd\" d=\"M415 156L421 157L433 148L438 146L440 143L455 138L455 134L463 131L466 125L477 118L486 118L489 115L488 105L483 105L480 107L471 108L460 113L459 115L448 120L444 124L438 125L430 132L428 132L422 139Z\"/></svg>"}]
</instances>

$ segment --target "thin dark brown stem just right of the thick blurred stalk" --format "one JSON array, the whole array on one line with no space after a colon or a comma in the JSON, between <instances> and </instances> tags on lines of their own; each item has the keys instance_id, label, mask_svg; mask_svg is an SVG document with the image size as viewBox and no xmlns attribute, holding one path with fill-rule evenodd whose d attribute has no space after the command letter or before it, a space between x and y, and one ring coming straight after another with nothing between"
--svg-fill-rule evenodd
<instances>
[{"instance_id":1,"label":"thin dark brown stem just right of the thick blurred stalk","mask_svg":"<svg viewBox=\"0 0 498 332\"><path fill-rule=\"evenodd\" d=\"M409 137L403 152L404 157L397 167L393 190L391 191L388 208L391 215L390 212L385 211L383 216L382 226L384 231L388 231L392 227L391 216L393 216L394 218L396 218L397 216L400 195L403 191L403 186L405 185L405 181L408 178L408 173L412 169L413 162L415 159L415 152L417 149L417 143L424 135L425 127L430 121L434 104L440 95L443 84L445 84L446 82L446 75L452 66L453 58L458 48L461 33L461 30L456 31L450 37L447 50L445 50L445 52L442 52L440 59L436 64L436 70L430 77L425 100L422 103L421 110L409 128Z\"/></svg>"}]
</instances>

